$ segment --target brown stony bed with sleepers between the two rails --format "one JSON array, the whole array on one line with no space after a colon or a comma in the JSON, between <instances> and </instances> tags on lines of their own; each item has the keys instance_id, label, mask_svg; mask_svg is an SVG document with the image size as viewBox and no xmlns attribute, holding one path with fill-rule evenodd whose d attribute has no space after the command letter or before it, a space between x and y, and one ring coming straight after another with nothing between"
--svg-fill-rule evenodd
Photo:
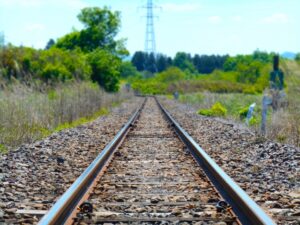
<instances>
[{"instance_id":1,"label":"brown stony bed with sleepers between the two rails","mask_svg":"<svg viewBox=\"0 0 300 225\"><path fill-rule=\"evenodd\" d=\"M77 224L237 224L153 98L114 154Z\"/></svg>"}]
</instances>

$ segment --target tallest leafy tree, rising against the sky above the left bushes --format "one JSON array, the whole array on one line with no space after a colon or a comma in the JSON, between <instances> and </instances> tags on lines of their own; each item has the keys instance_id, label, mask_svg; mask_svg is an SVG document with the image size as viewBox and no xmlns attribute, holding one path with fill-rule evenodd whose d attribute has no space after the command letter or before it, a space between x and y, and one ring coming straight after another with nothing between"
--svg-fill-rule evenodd
<instances>
[{"instance_id":1,"label":"tallest leafy tree, rising against the sky above the left bushes","mask_svg":"<svg viewBox=\"0 0 300 225\"><path fill-rule=\"evenodd\" d=\"M84 52L92 52L97 48L123 56L128 52L122 40L115 40L120 28L120 12L112 12L107 7L84 8L78 15L84 29L73 31L57 42L57 47L64 49L81 48Z\"/></svg>"}]
</instances>

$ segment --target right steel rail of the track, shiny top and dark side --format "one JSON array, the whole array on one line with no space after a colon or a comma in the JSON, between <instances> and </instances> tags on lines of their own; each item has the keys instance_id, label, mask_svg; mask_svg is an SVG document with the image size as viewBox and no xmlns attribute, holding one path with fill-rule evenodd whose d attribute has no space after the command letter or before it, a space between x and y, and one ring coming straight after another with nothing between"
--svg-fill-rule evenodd
<instances>
[{"instance_id":1,"label":"right steel rail of the track, shiny top and dark side","mask_svg":"<svg viewBox=\"0 0 300 225\"><path fill-rule=\"evenodd\" d=\"M275 222L194 141L156 97L155 99L180 139L188 147L222 197L230 204L240 222L246 225L274 225Z\"/></svg>"}]
</instances>

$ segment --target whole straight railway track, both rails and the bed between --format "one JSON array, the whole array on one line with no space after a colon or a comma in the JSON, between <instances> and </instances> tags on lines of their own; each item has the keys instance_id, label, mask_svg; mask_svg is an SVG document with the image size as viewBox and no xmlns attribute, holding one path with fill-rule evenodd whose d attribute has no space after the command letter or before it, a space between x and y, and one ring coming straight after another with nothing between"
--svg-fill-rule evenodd
<instances>
[{"instance_id":1,"label":"whole straight railway track, both rails and the bed between","mask_svg":"<svg viewBox=\"0 0 300 225\"><path fill-rule=\"evenodd\" d=\"M274 224L148 98L39 224Z\"/></svg>"}]
</instances>

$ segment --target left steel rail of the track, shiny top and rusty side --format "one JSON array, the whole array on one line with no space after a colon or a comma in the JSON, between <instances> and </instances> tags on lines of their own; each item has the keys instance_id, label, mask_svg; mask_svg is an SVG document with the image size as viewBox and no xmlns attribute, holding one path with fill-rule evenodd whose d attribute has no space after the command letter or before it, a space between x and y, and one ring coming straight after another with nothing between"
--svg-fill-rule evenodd
<instances>
[{"instance_id":1,"label":"left steel rail of the track, shiny top and rusty side","mask_svg":"<svg viewBox=\"0 0 300 225\"><path fill-rule=\"evenodd\" d=\"M69 187L69 189L61 196L61 198L52 206L50 211L41 219L39 225L60 225L64 224L81 198L88 191L93 180L104 168L106 162L114 153L115 149L126 136L132 124L140 115L146 99L143 104L135 111L129 121L117 133L114 139L103 149L97 158L89 165L89 167L80 175L80 177Z\"/></svg>"}]
</instances>

